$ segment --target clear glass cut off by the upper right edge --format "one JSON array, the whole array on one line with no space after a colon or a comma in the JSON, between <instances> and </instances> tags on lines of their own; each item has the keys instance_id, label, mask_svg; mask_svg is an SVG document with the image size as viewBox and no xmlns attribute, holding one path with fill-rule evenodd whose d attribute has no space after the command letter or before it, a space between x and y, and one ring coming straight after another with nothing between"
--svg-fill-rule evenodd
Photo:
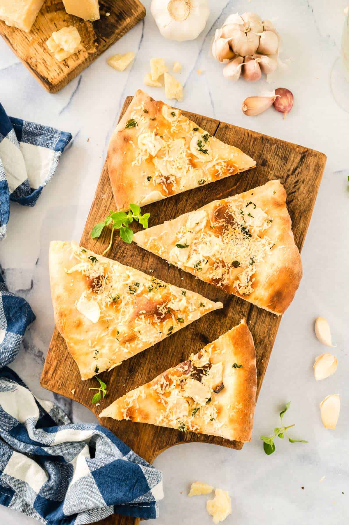
<instances>
[{"instance_id":1,"label":"clear glass cut off by the upper right edge","mask_svg":"<svg viewBox=\"0 0 349 525\"><path fill-rule=\"evenodd\" d=\"M331 71L331 90L337 104L349 113L349 11L345 16L341 56Z\"/></svg>"}]
</instances>

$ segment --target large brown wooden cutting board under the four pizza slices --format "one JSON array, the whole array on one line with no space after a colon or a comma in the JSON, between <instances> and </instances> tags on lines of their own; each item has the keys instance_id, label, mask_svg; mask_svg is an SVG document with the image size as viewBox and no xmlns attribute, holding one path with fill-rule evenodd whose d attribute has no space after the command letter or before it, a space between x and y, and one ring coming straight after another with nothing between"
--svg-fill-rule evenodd
<instances>
[{"instance_id":1,"label":"large brown wooden cutting board under the four pizza slices","mask_svg":"<svg viewBox=\"0 0 349 525\"><path fill-rule=\"evenodd\" d=\"M132 97L126 98L121 116L131 100ZM318 193L326 156L318 151L215 119L187 111L184 111L184 114L218 139L236 145L252 156L257 161L257 168L144 206L142 213L151 214L150 225L161 224L164 220L192 211L214 199L241 193L265 184L269 180L280 178L288 194L287 206L292 219L295 243L301 249ZM281 117L276 115L276 118ZM110 230L104 232L96 240L91 239L91 229L94 224L108 215L110 209L115 209L115 205L105 162L80 243L98 254L101 254L108 246ZM132 226L137 229L134 223ZM242 316L245 316L257 352L258 395L281 317L257 308L238 297L228 296L222 290L195 279L194 276L174 266L169 267L166 261L143 250L135 243L127 245L117 235L114 236L114 239L112 248L107 254L110 258L146 273L152 271L151 275L157 278L194 290L211 300L222 301L224 308L189 324L152 348L124 361L111 372L100 374L101 379L107 383L108 395L99 406L91 405L93 392L88 390L90 386L97 386L97 381L95 379L81 381L78 367L71 358L64 339L55 329L41 375L41 385L82 403L98 416L102 409L117 397L150 381L169 367L185 361L192 352L198 352L206 343L214 341L219 335L238 324ZM74 394L72 390L75 391ZM163 450L179 443L205 442L235 449L242 448L242 443L239 442L191 432L182 433L171 428L130 421L114 421L110 418L102 418L100 422L150 463ZM108 519L108 523L125 525L134 523L134 520L113 516Z\"/></svg>"}]
</instances>

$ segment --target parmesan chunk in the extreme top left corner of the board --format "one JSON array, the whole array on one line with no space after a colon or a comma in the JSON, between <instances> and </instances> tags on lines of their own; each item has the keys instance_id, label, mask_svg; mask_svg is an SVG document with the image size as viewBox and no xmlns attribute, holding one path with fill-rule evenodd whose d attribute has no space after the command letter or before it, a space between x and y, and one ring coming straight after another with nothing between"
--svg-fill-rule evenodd
<instances>
[{"instance_id":1,"label":"parmesan chunk in the extreme top left corner of the board","mask_svg":"<svg viewBox=\"0 0 349 525\"><path fill-rule=\"evenodd\" d=\"M22 31L30 31L44 0L1 0L0 20Z\"/></svg>"}]
</instances>

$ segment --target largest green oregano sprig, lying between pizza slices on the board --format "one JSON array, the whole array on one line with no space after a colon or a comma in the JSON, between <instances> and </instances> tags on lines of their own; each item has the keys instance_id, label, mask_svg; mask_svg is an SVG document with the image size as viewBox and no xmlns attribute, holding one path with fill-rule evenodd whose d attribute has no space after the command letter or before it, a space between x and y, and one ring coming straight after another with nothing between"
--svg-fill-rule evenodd
<instances>
[{"instance_id":1,"label":"largest green oregano sprig, lying between pizza slices on the board","mask_svg":"<svg viewBox=\"0 0 349 525\"><path fill-rule=\"evenodd\" d=\"M133 232L129 224L133 222L133 219L140 223L143 228L148 227L148 219L150 213L141 214L141 208L137 204L129 204L130 211L129 213L125 212L109 212L109 215L105 218L104 222L98 223L92 228L91 237L95 239L99 237L103 231L104 226L109 226L111 224L111 234L110 234L110 243L107 249L105 249L102 255L106 254L110 250L114 230L118 229L120 232L120 237L125 243L132 243Z\"/></svg>"}]
</instances>

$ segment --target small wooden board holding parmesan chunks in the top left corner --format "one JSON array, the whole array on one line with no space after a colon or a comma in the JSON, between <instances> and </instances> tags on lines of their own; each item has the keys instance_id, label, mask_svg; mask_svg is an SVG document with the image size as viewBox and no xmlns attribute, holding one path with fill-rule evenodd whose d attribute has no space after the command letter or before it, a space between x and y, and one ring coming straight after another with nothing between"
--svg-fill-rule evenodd
<instances>
[{"instance_id":1,"label":"small wooden board holding parmesan chunks in the top left corner","mask_svg":"<svg viewBox=\"0 0 349 525\"><path fill-rule=\"evenodd\" d=\"M99 20L85 22L68 15L61 0L45 0L29 33L0 20L0 35L41 86L56 93L145 17L139 0L100 0L99 9ZM70 25L78 29L83 49L58 62L46 41L53 31Z\"/></svg>"}]
</instances>

